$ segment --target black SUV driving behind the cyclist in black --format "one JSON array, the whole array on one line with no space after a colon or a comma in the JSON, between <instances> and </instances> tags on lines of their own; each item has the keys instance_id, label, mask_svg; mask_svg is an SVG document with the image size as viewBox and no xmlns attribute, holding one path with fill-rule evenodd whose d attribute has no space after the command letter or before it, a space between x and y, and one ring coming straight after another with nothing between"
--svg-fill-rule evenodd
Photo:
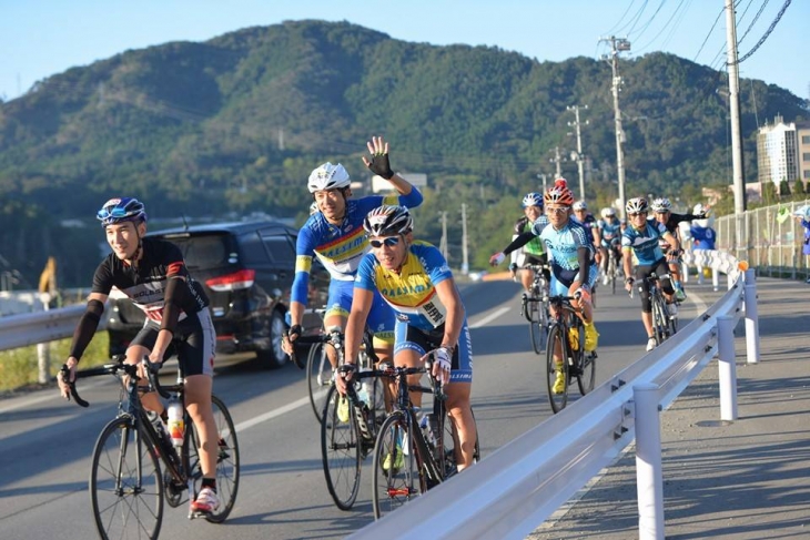
<instances>
[{"instance_id":1,"label":"black SUV driving behind the cyclist in black","mask_svg":"<svg viewBox=\"0 0 810 540\"><path fill-rule=\"evenodd\" d=\"M203 285L211 300L216 330L216 351L255 350L267 368L287 361L281 348L286 330L284 315L295 275L297 230L277 222L224 223L172 228L149 236L176 244L191 275ZM328 295L330 276L313 259L310 307L322 307ZM113 289L113 292L115 292ZM143 312L122 294L110 295L107 329L110 354L121 354L143 326ZM316 315L304 326L321 327Z\"/></svg>"}]
</instances>

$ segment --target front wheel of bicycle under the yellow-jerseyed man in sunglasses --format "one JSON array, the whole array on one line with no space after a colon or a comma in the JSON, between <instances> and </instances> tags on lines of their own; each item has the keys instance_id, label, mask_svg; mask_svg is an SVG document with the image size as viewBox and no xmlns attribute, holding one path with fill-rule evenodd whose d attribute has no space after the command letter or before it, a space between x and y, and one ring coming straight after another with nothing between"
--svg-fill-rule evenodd
<instances>
[{"instance_id":1,"label":"front wheel of bicycle under the yellow-jerseyed man in sunglasses","mask_svg":"<svg viewBox=\"0 0 810 540\"><path fill-rule=\"evenodd\" d=\"M374 445L374 518L379 519L427 490L405 412L391 414Z\"/></svg>"}]
</instances>

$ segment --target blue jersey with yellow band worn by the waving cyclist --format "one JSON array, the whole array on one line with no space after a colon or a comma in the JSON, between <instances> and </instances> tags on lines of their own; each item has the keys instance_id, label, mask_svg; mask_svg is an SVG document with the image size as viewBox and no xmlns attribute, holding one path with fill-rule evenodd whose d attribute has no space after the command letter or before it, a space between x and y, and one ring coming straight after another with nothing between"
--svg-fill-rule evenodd
<instances>
[{"instance_id":1,"label":"blue jersey with yellow band worn by the waving cyclist","mask_svg":"<svg viewBox=\"0 0 810 540\"><path fill-rule=\"evenodd\" d=\"M295 279L292 302L306 305L312 257L321 259L332 279L354 281L363 256L371 248L363 231L363 220L372 210L383 204L415 207L422 204L422 193L416 187L407 195L372 195L346 201L346 215L341 225L333 225L323 213L315 212L298 232L295 245Z\"/></svg>"}]
</instances>

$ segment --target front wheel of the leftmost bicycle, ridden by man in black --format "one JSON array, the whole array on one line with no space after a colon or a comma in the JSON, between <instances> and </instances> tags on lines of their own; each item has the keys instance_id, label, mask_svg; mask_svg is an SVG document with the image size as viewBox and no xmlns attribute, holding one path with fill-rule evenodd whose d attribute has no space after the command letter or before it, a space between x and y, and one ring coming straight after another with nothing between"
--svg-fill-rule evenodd
<instances>
[{"instance_id":1,"label":"front wheel of the leftmost bicycle, ridden by man in black","mask_svg":"<svg viewBox=\"0 0 810 540\"><path fill-rule=\"evenodd\" d=\"M163 478L156 452L132 418L115 418L99 435L89 488L101 538L158 538Z\"/></svg>"}]
</instances>

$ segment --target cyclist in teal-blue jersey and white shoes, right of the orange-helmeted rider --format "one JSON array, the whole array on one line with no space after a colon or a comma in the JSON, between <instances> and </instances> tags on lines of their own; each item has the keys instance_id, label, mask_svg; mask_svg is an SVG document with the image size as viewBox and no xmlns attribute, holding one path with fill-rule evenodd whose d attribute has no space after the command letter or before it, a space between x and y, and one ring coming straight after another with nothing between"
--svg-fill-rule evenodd
<instances>
[{"instance_id":1,"label":"cyclist in teal-blue jersey and white shoes, right of the orange-helmeted rider","mask_svg":"<svg viewBox=\"0 0 810 540\"><path fill-rule=\"evenodd\" d=\"M625 259L625 288L632 291L636 279L645 279L655 273L661 282L664 296L667 298L669 315L675 317L678 308L675 305L675 288L669 279L667 258L659 245L659 238L664 238L670 246L670 256L678 253L680 244L664 223L655 220L647 220L649 205L645 197L636 197L627 201L625 206L629 225L621 234L621 249ZM636 274L632 274L632 256L636 256L638 264ZM644 281L641 289L641 322L647 330L647 350L656 348L656 338L652 332L652 305L650 304L650 292L647 281Z\"/></svg>"}]
</instances>

